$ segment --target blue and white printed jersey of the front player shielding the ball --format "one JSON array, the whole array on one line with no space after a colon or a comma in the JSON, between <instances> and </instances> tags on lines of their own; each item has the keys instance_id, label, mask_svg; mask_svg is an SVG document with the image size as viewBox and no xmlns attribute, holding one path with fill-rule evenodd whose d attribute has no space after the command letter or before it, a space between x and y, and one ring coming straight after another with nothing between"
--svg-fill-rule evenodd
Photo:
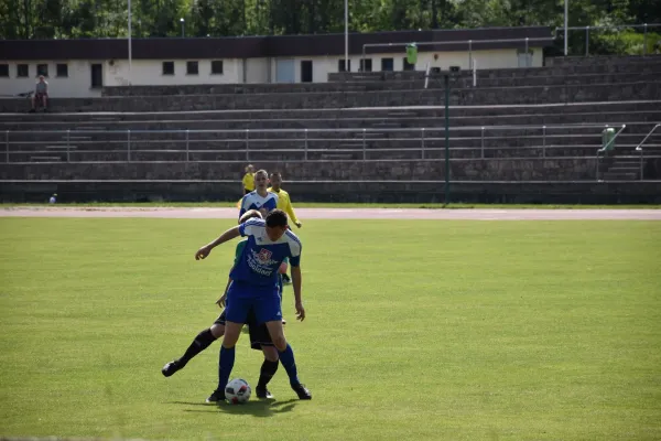
<instances>
[{"instance_id":1,"label":"blue and white printed jersey of the front player shielding the ball","mask_svg":"<svg viewBox=\"0 0 661 441\"><path fill-rule=\"evenodd\" d=\"M278 269L284 258L290 259L292 267L301 263L301 240L291 230L288 229L277 241L271 241L267 235L267 223L251 218L239 225L239 232L248 237L248 241L229 273L232 280L258 290L272 289L278 283Z\"/></svg>"}]
</instances>

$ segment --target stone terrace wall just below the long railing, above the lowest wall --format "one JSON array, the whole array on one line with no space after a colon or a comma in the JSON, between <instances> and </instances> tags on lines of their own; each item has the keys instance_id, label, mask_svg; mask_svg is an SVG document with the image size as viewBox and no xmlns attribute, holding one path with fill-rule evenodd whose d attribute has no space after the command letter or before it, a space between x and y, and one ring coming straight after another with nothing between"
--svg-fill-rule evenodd
<instances>
[{"instance_id":1,"label":"stone terrace wall just below the long railing, above the lowest wall","mask_svg":"<svg viewBox=\"0 0 661 441\"><path fill-rule=\"evenodd\" d=\"M261 161L256 166L279 170L300 181L442 180L443 160L397 161ZM596 180L596 159L492 158L451 160L451 178L462 181L586 181ZM0 180L232 180L242 162L84 162L0 163Z\"/></svg>"}]
</instances>

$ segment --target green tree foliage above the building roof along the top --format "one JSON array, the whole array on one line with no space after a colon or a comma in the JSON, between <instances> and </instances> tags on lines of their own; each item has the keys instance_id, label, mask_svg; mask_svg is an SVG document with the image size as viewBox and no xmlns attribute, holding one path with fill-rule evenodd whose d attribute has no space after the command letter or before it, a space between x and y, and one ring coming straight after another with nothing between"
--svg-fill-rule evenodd
<instances>
[{"instance_id":1,"label":"green tree foliage above the building roof along the top","mask_svg":"<svg viewBox=\"0 0 661 441\"><path fill-rule=\"evenodd\" d=\"M0 37L123 37L128 0L0 0ZM343 0L132 0L134 36L314 34L344 31ZM349 0L353 32L564 24L564 0ZM570 26L661 22L658 0L572 0ZM661 32L661 29L649 29ZM562 35L561 35L562 36ZM590 54L642 52L642 30L590 31ZM574 54L585 32L570 33ZM648 50L654 51L648 35ZM562 42L561 42L562 43Z\"/></svg>"}]
</instances>

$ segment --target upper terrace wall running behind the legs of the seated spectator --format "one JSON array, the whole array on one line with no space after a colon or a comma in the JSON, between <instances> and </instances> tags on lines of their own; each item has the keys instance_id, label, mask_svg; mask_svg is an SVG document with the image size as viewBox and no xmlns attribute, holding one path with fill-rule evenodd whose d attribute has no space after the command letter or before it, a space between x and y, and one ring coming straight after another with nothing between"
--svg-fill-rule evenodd
<instances>
[{"instance_id":1,"label":"upper terrace wall running behind the legs of the seated spectator","mask_svg":"<svg viewBox=\"0 0 661 441\"><path fill-rule=\"evenodd\" d=\"M592 84L589 86L529 86L517 88L453 89L453 106L533 105L549 103L603 103L650 100L661 97L661 82ZM443 89L327 92L252 95L186 95L53 99L51 109L62 111L184 111L218 109L317 109L381 106L440 106ZM0 111L25 111L24 99L0 99Z\"/></svg>"}]
</instances>

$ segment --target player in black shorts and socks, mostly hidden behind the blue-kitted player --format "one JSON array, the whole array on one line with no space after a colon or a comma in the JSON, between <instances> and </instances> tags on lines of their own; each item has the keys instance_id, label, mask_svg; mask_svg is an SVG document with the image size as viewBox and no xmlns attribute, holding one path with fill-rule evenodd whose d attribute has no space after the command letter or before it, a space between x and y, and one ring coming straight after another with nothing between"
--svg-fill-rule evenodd
<instances>
[{"instance_id":1,"label":"player in black shorts and socks, mostly hidden behind the blue-kitted player","mask_svg":"<svg viewBox=\"0 0 661 441\"><path fill-rule=\"evenodd\" d=\"M251 209L243 214L243 216L241 216L239 223L243 223L253 217L261 218L261 214L257 209ZM241 254L243 252L246 243L247 239L243 239L237 244L235 266L237 265L239 258L241 257ZM225 301L227 299L227 289L229 288L230 282L231 279L228 281L223 297L216 301L216 303L219 306L225 306ZM191 343L184 355L182 355L177 359L166 363L165 366L163 366L161 373L165 377L170 377L174 375L177 370L183 369L194 356L209 347L212 343L214 343L216 340L220 338L225 334L225 312L226 311L224 310L210 327L207 327L206 330L202 331L195 336L193 343ZM263 323L257 324L254 311L250 311L250 313L248 314L247 324L250 333L250 347L257 351L262 351L264 353L264 362L262 363L259 381L257 384L257 387L254 388L254 391L258 398L273 398L273 396L267 388L267 385L278 370L278 351L273 346L273 342L271 341L271 336L269 335L269 330L267 329L267 325ZM207 398L207 402L215 401L218 401L218 398L214 395Z\"/></svg>"}]
</instances>

